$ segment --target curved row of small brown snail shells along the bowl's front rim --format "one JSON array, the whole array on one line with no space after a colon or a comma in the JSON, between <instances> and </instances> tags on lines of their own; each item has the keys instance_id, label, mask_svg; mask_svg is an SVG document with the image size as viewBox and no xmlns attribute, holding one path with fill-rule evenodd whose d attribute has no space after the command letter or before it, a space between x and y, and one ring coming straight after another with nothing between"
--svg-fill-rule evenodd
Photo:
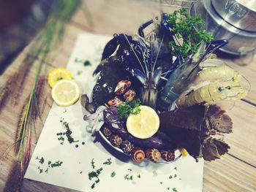
<instances>
[{"instance_id":1,"label":"curved row of small brown snail shells along the bowl's front rim","mask_svg":"<svg viewBox=\"0 0 256 192\"><path fill-rule=\"evenodd\" d=\"M135 146L132 142L122 139L117 134L113 134L107 126L102 126L102 134L110 141L111 145L118 147L123 150L124 153L127 153L132 156L132 159L136 162L145 161L146 159L157 163L158 161L170 162L175 159L173 150L157 150L152 149L142 149Z\"/></svg>"}]
</instances>

